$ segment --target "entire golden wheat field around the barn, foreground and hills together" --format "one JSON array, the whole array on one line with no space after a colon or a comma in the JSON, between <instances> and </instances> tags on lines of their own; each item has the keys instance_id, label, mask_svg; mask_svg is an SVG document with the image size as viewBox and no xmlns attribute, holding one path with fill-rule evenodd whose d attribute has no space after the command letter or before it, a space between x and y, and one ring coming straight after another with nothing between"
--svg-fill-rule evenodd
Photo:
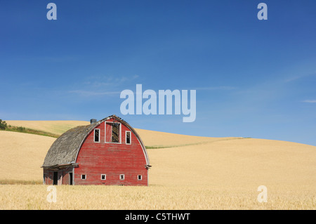
<instances>
[{"instance_id":1,"label":"entire golden wheat field around the barn, foreground and hills together","mask_svg":"<svg viewBox=\"0 0 316 224\"><path fill-rule=\"evenodd\" d=\"M60 130L84 124L72 122ZM41 126L15 126L32 125ZM45 129L56 131L53 121ZM62 185L49 203L46 185L0 185L0 209L316 209L315 146L136 131L145 145L164 147L147 150L148 187ZM40 182L54 140L0 131L0 180ZM260 185L267 187L267 202L257 200Z\"/></svg>"}]
</instances>

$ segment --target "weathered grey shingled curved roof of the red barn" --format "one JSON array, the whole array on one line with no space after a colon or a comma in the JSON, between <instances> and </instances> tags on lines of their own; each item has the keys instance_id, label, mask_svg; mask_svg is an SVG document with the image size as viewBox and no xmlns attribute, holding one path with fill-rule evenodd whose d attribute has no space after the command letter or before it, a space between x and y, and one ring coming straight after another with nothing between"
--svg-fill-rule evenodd
<instances>
[{"instance_id":1,"label":"weathered grey shingled curved roof of the red barn","mask_svg":"<svg viewBox=\"0 0 316 224\"><path fill-rule=\"evenodd\" d=\"M103 121L108 119L116 119L121 122L125 126L127 126L135 136L138 138L141 147L143 148L143 152L145 154L146 166L150 166L149 158L147 155L147 151L145 149L145 145L143 141L138 136L138 133L123 119L117 117L116 115L111 115L102 119L96 123L87 125L87 126L77 126L74 129L70 129L63 133L59 138L55 140L51 148L48 150L46 157L44 159L44 164L41 167L54 167L54 166L62 166L62 165L70 165L74 164L77 160L77 155L79 153L80 147L84 140L88 136L96 126L101 124Z\"/></svg>"}]
</instances>

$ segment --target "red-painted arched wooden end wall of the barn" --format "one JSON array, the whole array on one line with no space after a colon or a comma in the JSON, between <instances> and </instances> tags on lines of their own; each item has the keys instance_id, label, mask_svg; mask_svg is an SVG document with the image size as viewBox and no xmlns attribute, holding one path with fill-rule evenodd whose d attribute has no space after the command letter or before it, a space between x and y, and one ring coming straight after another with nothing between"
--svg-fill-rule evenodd
<instances>
[{"instance_id":1,"label":"red-painted arched wooden end wall of the barn","mask_svg":"<svg viewBox=\"0 0 316 224\"><path fill-rule=\"evenodd\" d=\"M125 131L131 130L124 124L121 124L121 144L105 143L105 122L96 129L100 129L100 143L93 142L92 131L81 145L77 157L79 166L74 168L74 184L147 185L145 155L133 132L131 145L127 145ZM81 180L81 174L86 175L86 180ZM101 174L106 175L106 180L101 180ZM119 179L120 174L124 174L124 180ZM142 176L142 180L138 180L138 175Z\"/></svg>"}]
</instances>

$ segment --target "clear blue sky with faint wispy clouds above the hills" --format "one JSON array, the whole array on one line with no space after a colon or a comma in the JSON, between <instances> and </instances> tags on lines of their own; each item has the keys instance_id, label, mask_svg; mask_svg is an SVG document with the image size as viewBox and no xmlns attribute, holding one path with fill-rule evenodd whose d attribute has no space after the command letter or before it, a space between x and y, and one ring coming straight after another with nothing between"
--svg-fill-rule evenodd
<instances>
[{"instance_id":1,"label":"clear blue sky with faint wispy clouds above the hills","mask_svg":"<svg viewBox=\"0 0 316 224\"><path fill-rule=\"evenodd\" d=\"M57 20L47 20L48 3ZM268 20L258 20L258 4ZM0 119L316 145L316 1L1 1ZM196 90L197 118L122 115L124 89Z\"/></svg>"}]
</instances>

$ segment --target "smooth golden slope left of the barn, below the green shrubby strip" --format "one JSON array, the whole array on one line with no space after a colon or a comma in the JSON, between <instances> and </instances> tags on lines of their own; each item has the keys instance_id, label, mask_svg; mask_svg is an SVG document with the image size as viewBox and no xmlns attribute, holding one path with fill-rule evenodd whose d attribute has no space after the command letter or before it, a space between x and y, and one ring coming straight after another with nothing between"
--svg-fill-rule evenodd
<instances>
[{"instance_id":1,"label":"smooth golden slope left of the barn, below the green shrubby strip","mask_svg":"<svg viewBox=\"0 0 316 224\"><path fill-rule=\"evenodd\" d=\"M0 180L41 180L41 165L55 138L0 131Z\"/></svg>"}]
</instances>

